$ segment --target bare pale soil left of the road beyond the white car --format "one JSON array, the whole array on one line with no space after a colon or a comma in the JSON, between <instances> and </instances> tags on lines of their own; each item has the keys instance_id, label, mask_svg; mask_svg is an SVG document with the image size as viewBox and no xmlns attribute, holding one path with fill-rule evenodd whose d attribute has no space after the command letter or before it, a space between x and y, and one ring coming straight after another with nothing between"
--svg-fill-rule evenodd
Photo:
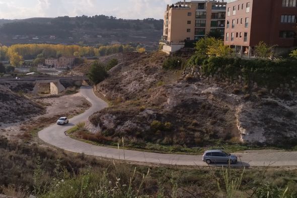
<instances>
[{"instance_id":1,"label":"bare pale soil left of the road beyond the white car","mask_svg":"<svg viewBox=\"0 0 297 198\"><path fill-rule=\"evenodd\" d=\"M76 93L72 95L63 95L60 97L48 97L33 100L34 103L43 106L46 111L25 121L2 124L0 126L0 136L8 139L26 140L32 142L38 140L37 132L42 128L53 124L59 117L73 117L81 114L90 107L90 103L81 95Z\"/></svg>"}]
</instances>

